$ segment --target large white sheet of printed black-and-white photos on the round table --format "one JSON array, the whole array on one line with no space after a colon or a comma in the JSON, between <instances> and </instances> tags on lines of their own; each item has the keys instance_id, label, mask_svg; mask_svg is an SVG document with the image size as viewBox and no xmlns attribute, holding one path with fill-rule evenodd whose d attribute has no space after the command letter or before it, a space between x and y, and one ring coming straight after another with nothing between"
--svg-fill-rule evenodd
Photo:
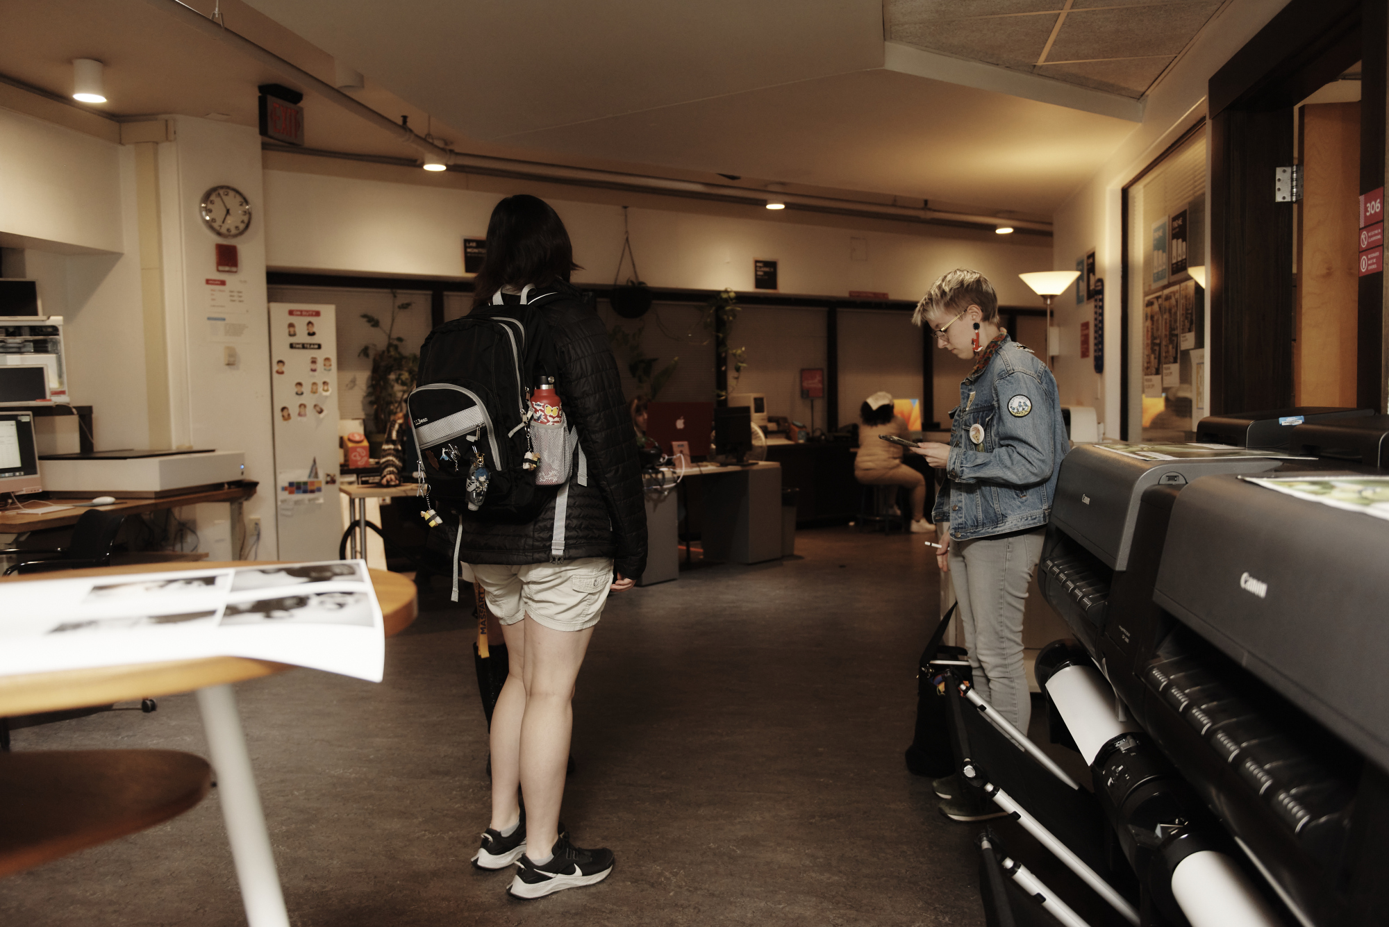
<instances>
[{"instance_id":1,"label":"large white sheet of printed black-and-white photos on the round table","mask_svg":"<svg viewBox=\"0 0 1389 927\"><path fill-rule=\"evenodd\" d=\"M0 676L247 656L381 681L363 561L0 583Z\"/></svg>"}]
</instances>

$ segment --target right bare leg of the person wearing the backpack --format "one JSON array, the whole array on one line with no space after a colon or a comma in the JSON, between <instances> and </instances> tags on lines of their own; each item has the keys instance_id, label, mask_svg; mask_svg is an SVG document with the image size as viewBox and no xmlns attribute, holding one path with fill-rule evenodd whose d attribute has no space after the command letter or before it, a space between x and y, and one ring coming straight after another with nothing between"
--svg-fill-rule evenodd
<instances>
[{"instance_id":1,"label":"right bare leg of the person wearing the backpack","mask_svg":"<svg viewBox=\"0 0 1389 927\"><path fill-rule=\"evenodd\" d=\"M526 855L535 860L549 858L560 838L560 803L574 731L574 683L593 629L556 631L529 616L522 623L526 702L521 722L521 791L526 806Z\"/></svg>"}]
</instances>

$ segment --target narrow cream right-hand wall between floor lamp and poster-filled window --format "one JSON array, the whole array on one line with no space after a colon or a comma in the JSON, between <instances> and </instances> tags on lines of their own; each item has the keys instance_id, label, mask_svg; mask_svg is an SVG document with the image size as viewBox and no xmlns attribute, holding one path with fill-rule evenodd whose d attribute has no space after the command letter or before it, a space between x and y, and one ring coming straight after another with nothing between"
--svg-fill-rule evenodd
<instances>
[{"instance_id":1,"label":"narrow cream right-hand wall between floor lamp and poster-filled window","mask_svg":"<svg viewBox=\"0 0 1389 927\"><path fill-rule=\"evenodd\" d=\"M1057 300L1056 323L1063 329L1063 355L1056 362L1063 405L1100 405L1106 434L1118 437L1120 425L1120 352L1122 351L1120 280L1122 279L1122 189L1133 176L1161 154L1182 132L1206 115L1206 89L1215 71L1239 51L1279 10L1286 0L1233 0L1210 22L1171 72L1149 93L1143 122L1125 139L1104 167L1067 200L1053 216L1057 271L1075 269L1075 258L1096 251L1096 271L1107 284L1104 304L1104 375L1096 383L1090 358L1079 357L1081 322L1093 316L1093 305L1076 307L1065 296ZM1208 182L1207 182L1208 187ZM1210 228L1207 197L1206 228ZM1193 255L1193 262L1210 264L1207 253ZM1132 315L1131 307L1131 315ZM1206 343L1210 344L1210 314L1206 314ZM1210 387L1207 365L1207 393ZM1101 402L1096 402L1096 389ZM1131 393L1131 429L1139 427L1133 411L1140 405L1140 390ZM1131 434L1138 437L1139 432Z\"/></svg>"}]
</instances>

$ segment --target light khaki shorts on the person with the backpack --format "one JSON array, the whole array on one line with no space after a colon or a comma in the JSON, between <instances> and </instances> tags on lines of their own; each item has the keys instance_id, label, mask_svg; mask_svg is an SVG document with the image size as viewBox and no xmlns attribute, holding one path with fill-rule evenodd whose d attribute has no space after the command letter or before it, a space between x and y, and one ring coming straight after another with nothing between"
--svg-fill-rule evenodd
<instances>
[{"instance_id":1,"label":"light khaki shorts on the person with the backpack","mask_svg":"<svg viewBox=\"0 0 1389 927\"><path fill-rule=\"evenodd\" d=\"M613 558L585 556L560 563L472 563L474 581L488 594L488 609L503 624L529 615L557 631L582 631L603 616L613 586Z\"/></svg>"}]
</instances>

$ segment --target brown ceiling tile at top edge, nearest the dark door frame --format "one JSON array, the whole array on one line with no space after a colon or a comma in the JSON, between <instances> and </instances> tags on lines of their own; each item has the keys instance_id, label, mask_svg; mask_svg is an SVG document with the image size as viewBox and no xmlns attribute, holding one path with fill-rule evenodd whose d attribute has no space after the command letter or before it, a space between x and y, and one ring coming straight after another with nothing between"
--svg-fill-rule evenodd
<instances>
[{"instance_id":1,"label":"brown ceiling tile at top edge, nearest the dark door frame","mask_svg":"<svg viewBox=\"0 0 1389 927\"><path fill-rule=\"evenodd\" d=\"M1049 61L1176 54L1220 8L1221 0L1121 10L1072 10Z\"/></svg>"}]
</instances>

